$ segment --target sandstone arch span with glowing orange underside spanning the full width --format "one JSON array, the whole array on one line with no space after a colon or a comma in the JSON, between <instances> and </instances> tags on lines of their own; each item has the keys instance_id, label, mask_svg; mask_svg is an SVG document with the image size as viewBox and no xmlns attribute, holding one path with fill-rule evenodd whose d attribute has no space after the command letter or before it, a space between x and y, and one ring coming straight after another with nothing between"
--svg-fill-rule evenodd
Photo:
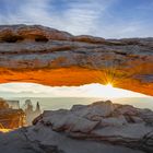
<instances>
[{"instance_id":1,"label":"sandstone arch span with glowing orange underside spanning the full width","mask_svg":"<svg viewBox=\"0 0 153 153\"><path fill-rule=\"evenodd\" d=\"M0 26L0 83L113 83L153 95L153 38L72 36L39 25Z\"/></svg>"}]
</instances>

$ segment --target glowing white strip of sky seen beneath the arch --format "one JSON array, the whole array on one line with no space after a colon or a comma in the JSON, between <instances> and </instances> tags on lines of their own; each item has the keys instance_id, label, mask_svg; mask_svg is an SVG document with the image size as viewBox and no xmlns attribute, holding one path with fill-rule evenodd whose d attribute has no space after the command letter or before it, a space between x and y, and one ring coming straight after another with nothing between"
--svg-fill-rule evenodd
<instances>
[{"instance_id":1,"label":"glowing white strip of sky seen beneath the arch","mask_svg":"<svg viewBox=\"0 0 153 153\"><path fill-rule=\"evenodd\" d=\"M0 97L146 97L146 95L98 83L82 86L46 86L35 83L0 84Z\"/></svg>"}]
</instances>

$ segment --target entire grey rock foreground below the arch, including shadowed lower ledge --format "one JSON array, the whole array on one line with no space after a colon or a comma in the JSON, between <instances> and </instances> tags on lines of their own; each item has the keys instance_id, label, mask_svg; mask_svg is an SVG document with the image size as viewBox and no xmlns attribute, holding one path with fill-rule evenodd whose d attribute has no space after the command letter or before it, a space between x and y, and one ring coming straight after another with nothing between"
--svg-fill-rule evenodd
<instances>
[{"instance_id":1,"label":"entire grey rock foreground below the arch, including shadowed lower ledge","mask_svg":"<svg viewBox=\"0 0 153 153\"><path fill-rule=\"evenodd\" d=\"M34 126L0 134L4 153L152 153L153 111L110 101L47 110Z\"/></svg>"}]
</instances>

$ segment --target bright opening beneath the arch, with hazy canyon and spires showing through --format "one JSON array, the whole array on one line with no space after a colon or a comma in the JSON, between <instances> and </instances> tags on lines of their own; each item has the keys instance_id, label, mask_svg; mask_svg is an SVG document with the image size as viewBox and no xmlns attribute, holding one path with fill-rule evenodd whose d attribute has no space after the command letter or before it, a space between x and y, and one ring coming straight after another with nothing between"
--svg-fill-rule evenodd
<instances>
[{"instance_id":1,"label":"bright opening beneath the arch, with hazy canyon and spires showing through","mask_svg":"<svg viewBox=\"0 0 153 153\"><path fill-rule=\"evenodd\" d=\"M80 86L47 86L26 82L3 83L0 84L0 97L9 104L10 109L22 110L21 118L17 119L23 120L20 123L16 121L19 125L11 125L12 121L10 121L11 126L4 128L5 125L1 121L2 118L0 119L0 129L5 132L31 125L33 119L44 110L71 108L76 104L87 105L96 101L110 99L113 103L153 109L151 103L153 97L117 89L110 83L106 85L92 83ZM15 117L13 116L13 118ZM10 120L12 119L10 118Z\"/></svg>"}]
</instances>

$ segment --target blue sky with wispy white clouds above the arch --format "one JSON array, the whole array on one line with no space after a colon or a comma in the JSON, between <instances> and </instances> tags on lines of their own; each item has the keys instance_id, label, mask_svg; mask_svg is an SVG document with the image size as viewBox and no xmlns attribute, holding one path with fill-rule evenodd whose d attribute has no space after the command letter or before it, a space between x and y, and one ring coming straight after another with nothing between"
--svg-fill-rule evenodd
<instances>
[{"instance_id":1,"label":"blue sky with wispy white clouds above the arch","mask_svg":"<svg viewBox=\"0 0 153 153\"><path fill-rule=\"evenodd\" d=\"M0 0L0 24L42 24L73 35L152 37L153 0Z\"/></svg>"}]
</instances>

